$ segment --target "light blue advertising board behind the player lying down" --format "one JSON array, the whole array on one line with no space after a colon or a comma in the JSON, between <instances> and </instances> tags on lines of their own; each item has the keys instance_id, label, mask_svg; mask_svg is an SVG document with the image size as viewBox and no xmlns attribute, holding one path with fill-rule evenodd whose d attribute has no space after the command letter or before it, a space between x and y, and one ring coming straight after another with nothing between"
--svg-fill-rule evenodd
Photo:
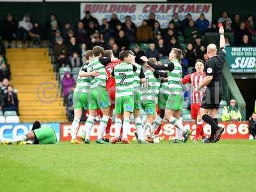
<instances>
[{"instance_id":1,"label":"light blue advertising board behind the player lying down","mask_svg":"<svg viewBox=\"0 0 256 192\"><path fill-rule=\"evenodd\" d=\"M60 141L60 124L46 124L54 128L57 140ZM0 141L10 140L21 135L28 134L31 131L33 124L0 124Z\"/></svg>"}]
</instances>

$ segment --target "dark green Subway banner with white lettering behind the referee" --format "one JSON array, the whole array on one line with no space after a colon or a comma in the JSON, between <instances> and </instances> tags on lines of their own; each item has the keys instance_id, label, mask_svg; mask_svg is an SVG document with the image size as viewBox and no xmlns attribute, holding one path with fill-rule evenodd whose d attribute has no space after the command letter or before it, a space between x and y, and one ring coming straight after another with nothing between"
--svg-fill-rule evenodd
<instances>
[{"instance_id":1,"label":"dark green Subway banner with white lettering behind the referee","mask_svg":"<svg viewBox=\"0 0 256 192\"><path fill-rule=\"evenodd\" d=\"M256 72L256 47L226 47L226 61L232 73Z\"/></svg>"}]
</instances>

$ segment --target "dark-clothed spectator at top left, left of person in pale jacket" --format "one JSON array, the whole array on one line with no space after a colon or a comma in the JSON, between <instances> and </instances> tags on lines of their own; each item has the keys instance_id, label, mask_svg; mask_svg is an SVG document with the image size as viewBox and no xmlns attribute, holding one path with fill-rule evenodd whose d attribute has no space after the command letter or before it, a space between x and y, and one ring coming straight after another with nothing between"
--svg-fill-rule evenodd
<instances>
[{"instance_id":1,"label":"dark-clothed spectator at top left, left of person in pale jacket","mask_svg":"<svg viewBox=\"0 0 256 192\"><path fill-rule=\"evenodd\" d=\"M8 41L8 48L11 48L12 40L17 38L18 23L12 13L8 13L6 20L3 22L3 37Z\"/></svg>"}]
</instances>

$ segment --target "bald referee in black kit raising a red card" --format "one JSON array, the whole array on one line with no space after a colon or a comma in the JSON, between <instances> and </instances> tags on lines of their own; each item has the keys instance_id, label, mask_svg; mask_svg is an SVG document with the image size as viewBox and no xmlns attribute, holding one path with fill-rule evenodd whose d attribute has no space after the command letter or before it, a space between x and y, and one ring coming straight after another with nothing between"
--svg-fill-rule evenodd
<instances>
[{"instance_id":1,"label":"bald referee in black kit raising a red card","mask_svg":"<svg viewBox=\"0 0 256 192\"><path fill-rule=\"evenodd\" d=\"M218 127L217 112L220 106L220 101L223 98L222 88L222 69L225 63L226 51L224 28L220 26L220 51L217 54L217 47L214 44L207 46L207 55L209 60L205 63L205 79L195 88L198 92L205 86L204 97L202 99L200 117L204 122L211 125L211 136L203 141L203 143L216 143L220 140L223 128ZM211 116L209 115L211 114Z\"/></svg>"}]
</instances>

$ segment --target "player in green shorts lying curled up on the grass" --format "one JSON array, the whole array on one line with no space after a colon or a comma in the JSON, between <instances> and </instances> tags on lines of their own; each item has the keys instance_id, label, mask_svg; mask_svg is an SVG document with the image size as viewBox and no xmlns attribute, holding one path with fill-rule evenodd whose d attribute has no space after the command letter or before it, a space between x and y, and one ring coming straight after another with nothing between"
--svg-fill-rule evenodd
<instances>
[{"instance_id":1,"label":"player in green shorts lying curled up on the grass","mask_svg":"<svg viewBox=\"0 0 256 192\"><path fill-rule=\"evenodd\" d=\"M54 144L57 142L56 133L50 125L41 125L35 121L31 131L26 135L17 136L13 141L2 141L1 145Z\"/></svg>"}]
</instances>

